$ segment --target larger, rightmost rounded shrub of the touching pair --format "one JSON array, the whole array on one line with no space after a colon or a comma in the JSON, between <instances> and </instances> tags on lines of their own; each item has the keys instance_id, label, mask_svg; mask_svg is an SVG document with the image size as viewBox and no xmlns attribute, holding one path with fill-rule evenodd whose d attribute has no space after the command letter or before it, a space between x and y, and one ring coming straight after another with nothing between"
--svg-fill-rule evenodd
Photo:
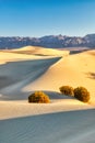
<instances>
[{"instance_id":1,"label":"larger, rightmost rounded shrub of the touching pair","mask_svg":"<svg viewBox=\"0 0 95 143\"><path fill-rule=\"evenodd\" d=\"M83 102L88 102L90 92L84 87L78 87L74 89L74 97Z\"/></svg>"}]
</instances>

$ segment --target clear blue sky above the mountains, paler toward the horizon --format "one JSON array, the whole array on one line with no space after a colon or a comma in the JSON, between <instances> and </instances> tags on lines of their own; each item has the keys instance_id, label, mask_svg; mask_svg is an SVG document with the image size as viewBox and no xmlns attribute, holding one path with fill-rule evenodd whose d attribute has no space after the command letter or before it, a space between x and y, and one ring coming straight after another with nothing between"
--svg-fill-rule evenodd
<instances>
[{"instance_id":1,"label":"clear blue sky above the mountains, paler toward the horizon","mask_svg":"<svg viewBox=\"0 0 95 143\"><path fill-rule=\"evenodd\" d=\"M95 33L95 0L0 0L0 36Z\"/></svg>"}]
</instances>

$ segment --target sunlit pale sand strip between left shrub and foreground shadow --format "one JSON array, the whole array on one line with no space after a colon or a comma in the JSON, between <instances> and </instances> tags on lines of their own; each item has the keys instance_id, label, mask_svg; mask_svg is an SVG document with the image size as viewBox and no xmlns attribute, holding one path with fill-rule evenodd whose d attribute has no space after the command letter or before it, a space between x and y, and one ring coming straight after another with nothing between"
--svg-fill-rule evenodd
<instances>
[{"instance_id":1,"label":"sunlit pale sand strip between left shrub and foreground shadow","mask_svg":"<svg viewBox=\"0 0 95 143\"><path fill-rule=\"evenodd\" d=\"M50 95L48 92L48 95ZM35 114L47 114L54 112L64 112L72 110L93 109L93 106L80 102L73 98L56 95L57 99L51 99L50 103L28 103L26 100L0 101L0 120ZM52 96L54 96L52 95ZM49 96L50 97L50 96ZM61 97L61 98L60 98ZM19 98L19 97L17 97Z\"/></svg>"}]
</instances>

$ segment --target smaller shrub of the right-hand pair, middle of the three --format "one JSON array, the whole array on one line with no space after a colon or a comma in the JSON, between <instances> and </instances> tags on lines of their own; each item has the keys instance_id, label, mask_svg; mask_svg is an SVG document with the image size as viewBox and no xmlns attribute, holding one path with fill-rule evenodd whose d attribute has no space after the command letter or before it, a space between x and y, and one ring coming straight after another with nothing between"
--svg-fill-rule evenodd
<instances>
[{"instance_id":1,"label":"smaller shrub of the right-hand pair, middle of the three","mask_svg":"<svg viewBox=\"0 0 95 143\"><path fill-rule=\"evenodd\" d=\"M62 95L74 96L73 88L70 86L62 86L59 88Z\"/></svg>"}]
</instances>

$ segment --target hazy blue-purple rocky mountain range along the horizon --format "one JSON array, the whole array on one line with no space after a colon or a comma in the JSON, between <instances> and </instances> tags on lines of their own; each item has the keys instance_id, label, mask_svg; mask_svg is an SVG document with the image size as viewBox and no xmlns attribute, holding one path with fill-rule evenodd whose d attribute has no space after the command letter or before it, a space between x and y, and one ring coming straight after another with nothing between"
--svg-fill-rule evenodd
<instances>
[{"instance_id":1,"label":"hazy blue-purple rocky mountain range along the horizon","mask_svg":"<svg viewBox=\"0 0 95 143\"><path fill-rule=\"evenodd\" d=\"M0 50L19 48L23 46L44 46L51 48L62 47L95 47L95 34L84 37L67 35L48 35L43 37L0 36Z\"/></svg>"}]
</instances>

